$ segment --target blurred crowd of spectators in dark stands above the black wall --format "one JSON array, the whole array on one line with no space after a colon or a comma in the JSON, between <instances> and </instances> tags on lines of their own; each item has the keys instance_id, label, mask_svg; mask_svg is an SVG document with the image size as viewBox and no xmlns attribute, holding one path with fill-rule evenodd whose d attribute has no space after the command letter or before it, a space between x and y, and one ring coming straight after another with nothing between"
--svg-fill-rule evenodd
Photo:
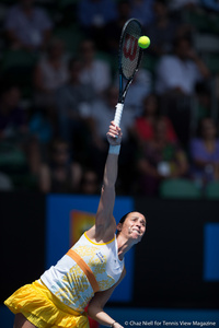
<instances>
[{"instance_id":1,"label":"blurred crowd of spectators in dark stands above the black wall","mask_svg":"<svg viewBox=\"0 0 219 328\"><path fill-rule=\"evenodd\" d=\"M1 1L0 190L100 192L130 17L151 45L125 102L117 192L219 180L219 45L198 43L219 43L218 13L214 0Z\"/></svg>"}]
</instances>

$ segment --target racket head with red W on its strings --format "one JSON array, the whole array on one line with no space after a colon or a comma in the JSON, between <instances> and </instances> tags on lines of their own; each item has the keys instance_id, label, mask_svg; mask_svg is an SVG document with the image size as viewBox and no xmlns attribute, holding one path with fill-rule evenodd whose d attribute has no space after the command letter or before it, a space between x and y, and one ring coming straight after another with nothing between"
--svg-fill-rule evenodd
<instances>
[{"instance_id":1,"label":"racket head with red W on its strings","mask_svg":"<svg viewBox=\"0 0 219 328\"><path fill-rule=\"evenodd\" d=\"M134 78L138 70L142 49L138 46L138 39L142 35L141 24L136 19L128 20L122 31L118 52L119 73L127 80Z\"/></svg>"}]
</instances>

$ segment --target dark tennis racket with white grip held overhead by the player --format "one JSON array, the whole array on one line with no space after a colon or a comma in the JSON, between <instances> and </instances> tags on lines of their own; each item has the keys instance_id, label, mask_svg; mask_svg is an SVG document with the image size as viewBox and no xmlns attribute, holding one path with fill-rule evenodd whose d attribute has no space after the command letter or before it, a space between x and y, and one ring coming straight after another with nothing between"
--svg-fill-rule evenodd
<instances>
[{"instance_id":1,"label":"dark tennis racket with white grip held overhead by the player","mask_svg":"<svg viewBox=\"0 0 219 328\"><path fill-rule=\"evenodd\" d=\"M138 71L142 49L138 39L142 35L141 24L136 19L128 20L122 31L118 50L119 92L114 121L119 127L123 115L124 102L135 73ZM126 85L124 87L124 80Z\"/></svg>"}]
</instances>

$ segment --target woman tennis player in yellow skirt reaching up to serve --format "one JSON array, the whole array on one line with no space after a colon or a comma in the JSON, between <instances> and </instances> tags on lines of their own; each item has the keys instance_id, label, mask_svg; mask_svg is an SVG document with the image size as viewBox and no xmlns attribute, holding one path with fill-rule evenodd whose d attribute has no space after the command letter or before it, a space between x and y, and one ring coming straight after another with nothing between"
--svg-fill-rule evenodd
<instances>
[{"instance_id":1,"label":"woman tennis player in yellow skirt reaching up to serve","mask_svg":"<svg viewBox=\"0 0 219 328\"><path fill-rule=\"evenodd\" d=\"M146 231L139 212L113 216L122 130L111 122L101 199L95 224L41 279L15 291L4 304L15 314L14 328L89 328L88 315L104 326L122 328L104 305L125 277L125 254ZM115 234L117 229L117 234Z\"/></svg>"}]
</instances>

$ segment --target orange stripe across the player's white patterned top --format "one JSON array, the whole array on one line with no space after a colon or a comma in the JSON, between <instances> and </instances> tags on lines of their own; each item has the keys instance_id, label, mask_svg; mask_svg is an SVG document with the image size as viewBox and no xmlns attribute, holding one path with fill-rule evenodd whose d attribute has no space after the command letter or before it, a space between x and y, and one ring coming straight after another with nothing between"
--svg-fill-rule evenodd
<instances>
[{"instance_id":1,"label":"orange stripe across the player's white patterned top","mask_svg":"<svg viewBox=\"0 0 219 328\"><path fill-rule=\"evenodd\" d=\"M94 293L96 293L100 290L99 283L92 270L89 268L89 266L84 262L84 260L80 257L80 255L78 255L78 253L76 253L73 249L69 249L67 255L70 256L77 262L77 265L81 268L81 270L83 270Z\"/></svg>"}]
</instances>

